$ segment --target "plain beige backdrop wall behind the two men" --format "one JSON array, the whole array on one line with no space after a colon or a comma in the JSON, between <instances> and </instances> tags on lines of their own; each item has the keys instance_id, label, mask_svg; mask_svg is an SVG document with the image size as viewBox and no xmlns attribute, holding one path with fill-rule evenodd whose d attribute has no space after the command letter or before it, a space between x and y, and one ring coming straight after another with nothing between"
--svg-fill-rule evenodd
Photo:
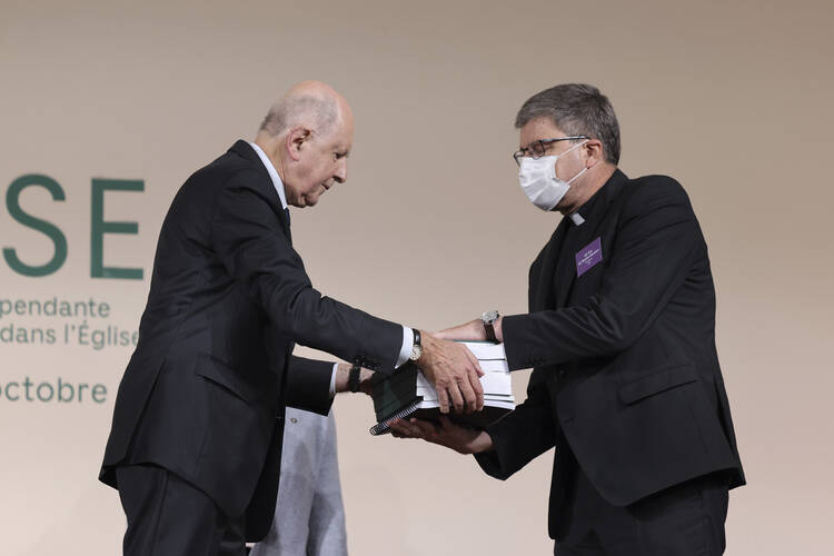
<instances>
[{"instance_id":1,"label":"plain beige backdrop wall behind the two men","mask_svg":"<svg viewBox=\"0 0 834 556\"><path fill-rule=\"evenodd\" d=\"M171 197L237 138L252 138L292 82L353 102L349 181L294 212L314 284L379 316L435 329L481 310L526 309L527 267L558 217L522 195L515 111L586 81L619 116L623 166L688 190L711 247L718 347L749 486L731 496L732 555L822 554L831 508L834 388L827 177L834 76L826 1L0 3L0 191L26 173L23 207L67 236L44 278L0 259L0 299L110 302L136 329ZM91 279L91 178L141 179L106 195L108 265L146 279ZM0 247L30 264L42 234L0 205ZM487 262L488 259L499 261ZM81 319L10 318L17 326ZM100 325L101 322L89 322ZM112 555L117 493L96 481L125 347L0 344L0 385L101 383L107 401L0 397L0 523L13 555ZM515 375L523 397L527 373ZM46 390L44 390L46 391ZM370 404L336 404L353 554L550 554L553 454L506 483L471 458L371 438Z\"/></svg>"}]
</instances>

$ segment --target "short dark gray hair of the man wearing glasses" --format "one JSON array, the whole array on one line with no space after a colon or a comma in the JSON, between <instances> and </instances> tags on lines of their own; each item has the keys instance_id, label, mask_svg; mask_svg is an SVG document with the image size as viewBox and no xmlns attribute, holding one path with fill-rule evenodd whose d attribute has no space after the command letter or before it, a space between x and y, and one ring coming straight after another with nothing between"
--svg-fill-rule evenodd
<instances>
[{"instance_id":1,"label":"short dark gray hair of the man wearing glasses","mask_svg":"<svg viewBox=\"0 0 834 556\"><path fill-rule=\"evenodd\" d=\"M608 97L592 85L567 83L527 99L516 116L516 128L536 118L549 118L568 136L588 136L603 143L605 160L619 162L619 123Z\"/></svg>"}]
</instances>

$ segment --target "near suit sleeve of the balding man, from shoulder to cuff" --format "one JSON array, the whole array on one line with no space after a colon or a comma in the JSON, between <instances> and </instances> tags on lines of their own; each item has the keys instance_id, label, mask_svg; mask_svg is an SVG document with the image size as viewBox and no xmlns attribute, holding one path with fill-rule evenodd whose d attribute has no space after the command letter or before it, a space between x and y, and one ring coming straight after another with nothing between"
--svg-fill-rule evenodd
<instances>
[{"instance_id":1,"label":"near suit sleeve of the balding man, from shoulder to cuff","mask_svg":"<svg viewBox=\"0 0 834 556\"><path fill-rule=\"evenodd\" d=\"M252 183L256 177L240 172L217 199L211 246L228 272L271 322L299 344L390 371L403 328L314 289L272 206Z\"/></svg>"}]
</instances>

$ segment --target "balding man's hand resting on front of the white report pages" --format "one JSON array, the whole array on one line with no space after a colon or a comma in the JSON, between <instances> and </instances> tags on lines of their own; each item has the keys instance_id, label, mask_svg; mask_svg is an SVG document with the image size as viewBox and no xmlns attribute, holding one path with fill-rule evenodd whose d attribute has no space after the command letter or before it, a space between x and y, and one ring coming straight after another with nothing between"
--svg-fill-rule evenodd
<instances>
[{"instance_id":1,"label":"balding man's hand resting on front of the white report pages","mask_svg":"<svg viewBox=\"0 0 834 556\"><path fill-rule=\"evenodd\" d=\"M449 400L455 413L459 414L484 408L484 388L480 386L484 371L466 346L424 334L423 355L416 364L435 386L440 413L449 413Z\"/></svg>"}]
</instances>

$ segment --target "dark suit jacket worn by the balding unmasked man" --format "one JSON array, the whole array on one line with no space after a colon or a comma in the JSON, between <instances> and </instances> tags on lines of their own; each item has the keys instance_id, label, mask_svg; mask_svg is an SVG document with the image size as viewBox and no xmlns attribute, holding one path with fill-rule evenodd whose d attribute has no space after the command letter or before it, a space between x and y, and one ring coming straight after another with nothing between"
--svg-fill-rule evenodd
<instances>
[{"instance_id":1,"label":"dark suit jacket worn by the balding unmasked man","mask_svg":"<svg viewBox=\"0 0 834 556\"><path fill-rule=\"evenodd\" d=\"M269 173L238 141L185 182L162 224L100 478L117 486L119 465L160 465L265 535L287 368L296 405L329 404L331 364L291 359L296 341L390 370L403 331L312 288Z\"/></svg>"}]
</instances>

